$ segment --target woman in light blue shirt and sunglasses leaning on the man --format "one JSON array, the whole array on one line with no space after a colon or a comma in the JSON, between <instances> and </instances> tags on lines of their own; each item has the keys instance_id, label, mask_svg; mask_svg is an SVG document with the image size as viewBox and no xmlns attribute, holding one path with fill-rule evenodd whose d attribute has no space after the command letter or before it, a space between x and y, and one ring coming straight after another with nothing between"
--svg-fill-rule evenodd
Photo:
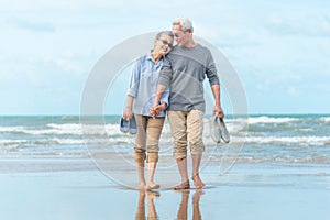
<instances>
[{"instance_id":1,"label":"woman in light blue shirt and sunglasses leaning on the man","mask_svg":"<svg viewBox=\"0 0 330 220\"><path fill-rule=\"evenodd\" d=\"M131 73L128 103L123 119L129 121L134 114L138 133L134 143L134 160L139 174L139 189L156 189L161 186L154 183L154 174L158 162L160 138L165 121L165 109L168 106L169 92L161 99L161 108L156 118L150 114L154 103L156 86L164 56L173 46L174 35L169 31L160 32L154 41L151 53L140 57ZM144 164L147 163L147 180L144 178Z\"/></svg>"}]
</instances>

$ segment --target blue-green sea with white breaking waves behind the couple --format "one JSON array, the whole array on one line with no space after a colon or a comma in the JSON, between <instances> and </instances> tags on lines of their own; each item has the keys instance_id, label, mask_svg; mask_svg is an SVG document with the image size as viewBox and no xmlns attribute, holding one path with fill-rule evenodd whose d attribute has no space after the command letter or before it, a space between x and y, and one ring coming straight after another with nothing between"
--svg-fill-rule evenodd
<instances>
[{"instance_id":1,"label":"blue-green sea with white breaking waves behind the couple","mask_svg":"<svg viewBox=\"0 0 330 220\"><path fill-rule=\"evenodd\" d=\"M131 152L133 138L119 131L119 120L120 116L106 116L103 125L90 123L82 134L78 116L2 116L0 157L80 158L88 155L86 143L122 145ZM233 130L239 120L228 117L226 122L232 142L244 142L240 162L330 164L330 114L250 116L244 135ZM206 146L215 145L206 127ZM161 145L172 145L168 124Z\"/></svg>"}]
</instances>

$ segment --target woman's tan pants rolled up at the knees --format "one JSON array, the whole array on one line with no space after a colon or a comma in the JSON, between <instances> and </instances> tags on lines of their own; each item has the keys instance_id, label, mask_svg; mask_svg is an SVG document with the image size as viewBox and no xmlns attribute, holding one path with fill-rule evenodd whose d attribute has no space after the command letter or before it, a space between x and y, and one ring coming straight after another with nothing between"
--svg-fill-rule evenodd
<instances>
[{"instance_id":1,"label":"woman's tan pants rolled up at the knees","mask_svg":"<svg viewBox=\"0 0 330 220\"><path fill-rule=\"evenodd\" d=\"M135 162L144 162L145 158L146 162L158 162L160 138L165 117L156 119L141 114L134 114L134 117L138 124L134 144Z\"/></svg>"}]
</instances>

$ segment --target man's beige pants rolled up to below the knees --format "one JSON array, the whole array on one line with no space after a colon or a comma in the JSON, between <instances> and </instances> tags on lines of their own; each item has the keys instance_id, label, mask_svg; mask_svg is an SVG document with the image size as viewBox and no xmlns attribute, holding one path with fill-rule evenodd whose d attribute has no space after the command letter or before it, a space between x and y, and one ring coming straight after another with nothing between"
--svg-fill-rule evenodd
<instances>
[{"instance_id":1,"label":"man's beige pants rolled up to below the knees","mask_svg":"<svg viewBox=\"0 0 330 220\"><path fill-rule=\"evenodd\" d=\"M202 143L204 112L191 111L167 111L170 125L170 133L174 138L175 158L187 157L187 142L191 154L202 154L205 146Z\"/></svg>"}]
</instances>

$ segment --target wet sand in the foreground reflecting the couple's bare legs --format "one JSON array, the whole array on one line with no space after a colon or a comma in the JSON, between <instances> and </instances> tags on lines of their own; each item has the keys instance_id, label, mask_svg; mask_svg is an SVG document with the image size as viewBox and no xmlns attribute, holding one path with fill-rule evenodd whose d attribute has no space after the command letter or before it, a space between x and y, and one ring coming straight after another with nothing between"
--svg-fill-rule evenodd
<instances>
[{"instance_id":1,"label":"wet sand in the foreground reflecting the couple's bare legs","mask_svg":"<svg viewBox=\"0 0 330 220\"><path fill-rule=\"evenodd\" d=\"M11 167L10 172L4 167ZM0 218L330 218L329 165L242 163L217 180L201 176L207 183L201 190L147 193L113 183L89 158L6 158L1 160Z\"/></svg>"}]
</instances>

